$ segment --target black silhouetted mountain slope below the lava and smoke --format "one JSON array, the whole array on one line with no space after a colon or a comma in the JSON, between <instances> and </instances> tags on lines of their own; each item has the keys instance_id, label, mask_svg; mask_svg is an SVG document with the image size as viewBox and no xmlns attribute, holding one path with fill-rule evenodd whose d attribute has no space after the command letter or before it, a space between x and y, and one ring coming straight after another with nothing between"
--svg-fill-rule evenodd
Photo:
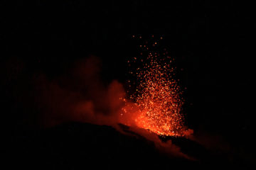
<instances>
[{"instance_id":1,"label":"black silhouetted mountain slope below the lava and smoke","mask_svg":"<svg viewBox=\"0 0 256 170\"><path fill-rule=\"evenodd\" d=\"M168 139L164 139L168 140ZM173 138L196 161L160 153L144 137L123 135L109 126L65 123L40 132L23 132L2 147L4 164L26 169L191 169L249 166L213 154L185 138Z\"/></svg>"}]
</instances>

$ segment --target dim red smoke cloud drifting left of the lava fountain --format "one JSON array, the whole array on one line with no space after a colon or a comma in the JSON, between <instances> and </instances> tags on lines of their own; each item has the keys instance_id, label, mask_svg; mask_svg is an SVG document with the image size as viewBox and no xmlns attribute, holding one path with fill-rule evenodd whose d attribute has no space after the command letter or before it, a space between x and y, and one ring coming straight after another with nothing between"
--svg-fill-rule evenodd
<instances>
[{"instance_id":1,"label":"dim red smoke cloud drifting left of the lava fountain","mask_svg":"<svg viewBox=\"0 0 256 170\"><path fill-rule=\"evenodd\" d=\"M75 62L65 77L49 81L41 75L35 80L42 125L49 127L66 121L117 123L117 113L124 104L119 98L124 97L124 89L117 80L104 85L100 65L100 60L91 56Z\"/></svg>"}]
</instances>

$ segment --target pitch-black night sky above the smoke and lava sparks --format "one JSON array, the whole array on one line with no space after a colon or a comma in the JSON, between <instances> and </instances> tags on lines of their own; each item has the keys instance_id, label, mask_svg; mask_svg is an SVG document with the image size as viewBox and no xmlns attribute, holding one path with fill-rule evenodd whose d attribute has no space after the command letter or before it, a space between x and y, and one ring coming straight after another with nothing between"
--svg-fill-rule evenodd
<instances>
[{"instance_id":1,"label":"pitch-black night sky above the smoke and lava sparks","mask_svg":"<svg viewBox=\"0 0 256 170\"><path fill-rule=\"evenodd\" d=\"M175 58L177 77L187 88L186 125L222 137L242 153L240 157L253 153L252 4L1 1L0 6L3 139L38 128L29 104L36 74L55 79L74 61L95 55L102 60L106 84L112 79L125 84L127 59L139 55L132 35L163 35L162 47Z\"/></svg>"}]
</instances>

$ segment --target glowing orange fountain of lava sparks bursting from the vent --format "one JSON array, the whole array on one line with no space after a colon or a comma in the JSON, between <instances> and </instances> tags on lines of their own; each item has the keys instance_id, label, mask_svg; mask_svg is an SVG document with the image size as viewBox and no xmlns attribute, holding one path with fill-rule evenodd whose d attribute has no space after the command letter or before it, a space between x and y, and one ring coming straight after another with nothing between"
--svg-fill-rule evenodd
<instances>
[{"instance_id":1,"label":"glowing orange fountain of lava sparks bursting from the vent","mask_svg":"<svg viewBox=\"0 0 256 170\"><path fill-rule=\"evenodd\" d=\"M130 72L137 80L134 83L137 84L136 92L130 96L133 103L124 99L126 106L122 108L121 118L132 118L128 125L136 125L157 135L183 136L183 99L180 87L174 79L174 68L171 67L174 59L167 55L166 49L162 53L154 50L158 42L144 43L145 45L139 45L142 49L141 57L128 61L129 66L135 63L140 67ZM132 87L131 84L129 81L129 87Z\"/></svg>"}]
</instances>

